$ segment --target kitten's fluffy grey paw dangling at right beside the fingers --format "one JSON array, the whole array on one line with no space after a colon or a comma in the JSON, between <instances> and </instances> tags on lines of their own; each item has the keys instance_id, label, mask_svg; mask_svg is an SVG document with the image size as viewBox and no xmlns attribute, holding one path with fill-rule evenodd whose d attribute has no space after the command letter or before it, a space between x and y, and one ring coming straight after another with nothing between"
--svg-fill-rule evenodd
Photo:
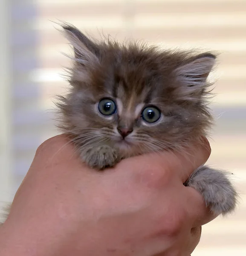
<instances>
[{"instance_id":1,"label":"kitten's fluffy grey paw dangling at right beside the fingers","mask_svg":"<svg viewBox=\"0 0 246 256\"><path fill-rule=\"evenodd\" d=\"M185 186L197 189L215 214L225 215L236 207L238 195L226 172L200 166L185 182Z\"/></svg>"}]
</instances>

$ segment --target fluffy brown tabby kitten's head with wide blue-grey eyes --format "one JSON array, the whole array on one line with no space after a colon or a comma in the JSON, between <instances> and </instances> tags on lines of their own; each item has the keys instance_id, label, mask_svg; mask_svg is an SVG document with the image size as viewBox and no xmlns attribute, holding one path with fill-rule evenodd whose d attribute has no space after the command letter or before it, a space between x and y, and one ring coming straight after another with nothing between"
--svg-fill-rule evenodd
<instances>
[{"instance_id":1,"label":"fluffy brown tabby kitten's head with wide blue-grey eyes","mask_svg":"<svg viewBox=\"0 0 246 256\"><path fill-rule=\"evenodd\" d=\"M58 105L64 131L77 143L107 144L130 156L177 148L206 134L215 55L96 42L73 26L63 28L75 56L71 92Z\"/></svg>"}]
</instances>

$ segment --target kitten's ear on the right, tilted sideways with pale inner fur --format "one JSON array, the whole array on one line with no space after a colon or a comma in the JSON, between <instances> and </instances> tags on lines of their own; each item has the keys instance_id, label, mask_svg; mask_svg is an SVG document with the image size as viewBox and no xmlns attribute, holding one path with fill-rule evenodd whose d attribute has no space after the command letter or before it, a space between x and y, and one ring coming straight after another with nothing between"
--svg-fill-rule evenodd
<instances>
[{"instance_id":1,"label":"kitten's ear on the right, tilted sideways with pale inner fur","mask_svg":"<svg viewBox=\"0 0 246 256\"><path fill-rule=\"evenodd\" d=\"M177 79L188 87L206 85L208 75L214 67L215 59L216 56L211 53L197 55L187 64L175 70Z\"/></svg>"}]
</instances>

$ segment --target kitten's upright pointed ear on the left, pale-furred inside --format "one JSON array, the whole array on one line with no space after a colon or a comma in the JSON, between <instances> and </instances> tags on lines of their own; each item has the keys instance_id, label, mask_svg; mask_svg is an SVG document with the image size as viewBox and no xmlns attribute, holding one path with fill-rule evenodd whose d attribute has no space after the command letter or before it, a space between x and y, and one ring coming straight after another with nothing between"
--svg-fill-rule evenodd
<instances>
[{"instance_id":1,"label":"kitten's upright pointed ear on the left, pale-furred inside","mask_svg":"<svg viewBox=\"0 0 246 256\"><path fill-rule=\"evenodd\" d=\"M81 64L93 64L98 62L99 48L75 26L62 24L64 33L72 44L75 54L75 61Z\"/></svg>"}]
</instances>

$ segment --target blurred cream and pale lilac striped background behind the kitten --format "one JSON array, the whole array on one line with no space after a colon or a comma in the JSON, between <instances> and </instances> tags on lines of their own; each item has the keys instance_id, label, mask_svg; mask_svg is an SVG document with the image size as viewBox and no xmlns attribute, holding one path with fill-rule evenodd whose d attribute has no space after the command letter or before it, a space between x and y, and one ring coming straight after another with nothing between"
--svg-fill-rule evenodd
<instances>
[{"instance_id":1,"label":"blurred cream and pale lilac striped background behind the kitten","mask_svg":"<svg viewBox=\"0 0 246 256\"><path fill-rule=\"evenodd\" d=\"M193 256L246 255L246 0L0 0L0 201L11 201L35 150L58 132L52 96L64 93L71 49L67 21L100 38L221 52L211 103L216 126L209 163L230 170L235 214L204 226Z\"/></svg>"}]
</instances>

